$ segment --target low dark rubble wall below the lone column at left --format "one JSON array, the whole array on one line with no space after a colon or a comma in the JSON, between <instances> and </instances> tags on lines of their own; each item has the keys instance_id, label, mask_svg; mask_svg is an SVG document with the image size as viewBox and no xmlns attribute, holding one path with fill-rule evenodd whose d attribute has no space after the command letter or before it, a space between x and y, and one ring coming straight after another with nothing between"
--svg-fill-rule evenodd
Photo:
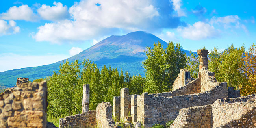
<instances>
[{"instance_id":1,"label":"low dark rubble wall below the lone column at left","mask_svg":"<svg viewBox=\"0 0 256 128\"><path fill-rule=\"evenodd\" d=\"M59 119L59 128L91 128L96 125L96 111L86 111Z\"/></svg>"}]
</instances>

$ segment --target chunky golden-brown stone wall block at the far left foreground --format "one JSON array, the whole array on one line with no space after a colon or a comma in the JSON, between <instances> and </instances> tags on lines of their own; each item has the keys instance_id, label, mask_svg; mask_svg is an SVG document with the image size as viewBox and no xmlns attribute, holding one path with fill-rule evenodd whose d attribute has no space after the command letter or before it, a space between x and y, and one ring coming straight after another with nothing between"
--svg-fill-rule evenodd
<instances>
[{"instance_id":1,"label":"chunky golden-brown stone wall block at the far left foreground","mask_svg":"<svg viewBox=\"0 0 256 128\"><path fill-rule=\"evenodd\" d=\"M0 127L46 127L47 83L22 82L0 99Z\"/></svg>"}]
</instances>

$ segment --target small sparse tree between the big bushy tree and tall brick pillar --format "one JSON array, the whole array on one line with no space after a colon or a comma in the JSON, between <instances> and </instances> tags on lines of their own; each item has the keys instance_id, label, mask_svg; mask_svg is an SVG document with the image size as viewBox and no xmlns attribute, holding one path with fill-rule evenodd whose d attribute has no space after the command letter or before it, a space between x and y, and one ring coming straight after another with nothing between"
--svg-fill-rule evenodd
<instances>
[{"instance_id":1,"label":"small sparse tree between the big bushy tree and tall brick pillar","mask_svg":"<svg viewBox=\"0 0 256 128\"><path fill-rule=\"evenodd\" d=\"M191 57L187 57L187 67L193 78L198 78L199 72L199 56L190 51Z\"/></svg>"}]
</instances>

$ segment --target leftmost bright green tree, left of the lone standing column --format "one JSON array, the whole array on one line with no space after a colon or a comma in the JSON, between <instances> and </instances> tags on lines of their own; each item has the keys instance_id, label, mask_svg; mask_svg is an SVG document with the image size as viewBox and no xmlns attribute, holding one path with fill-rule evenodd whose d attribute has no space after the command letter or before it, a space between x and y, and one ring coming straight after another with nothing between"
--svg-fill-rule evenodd
<instances>
[{"instance_id":1,"label":"leftmost bright green tree, left of the lone standing column","mask_svg":"<svg viewBox=\"0 0 256 128\"><path fill-rule=\"evenodd\" d=\"M64 61L63 61L64 62ZM74 115L82 110L80 101L76 101L76 92L80 88L80 64L76 60L61 64L59 71L48 78L48 114L52 116Z\"/></svg>"}]
</instances>

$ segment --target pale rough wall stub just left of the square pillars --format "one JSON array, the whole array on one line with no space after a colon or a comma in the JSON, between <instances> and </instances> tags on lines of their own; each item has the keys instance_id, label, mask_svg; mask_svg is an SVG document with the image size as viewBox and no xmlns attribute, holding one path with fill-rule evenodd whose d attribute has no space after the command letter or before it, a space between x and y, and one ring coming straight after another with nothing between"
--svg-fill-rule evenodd
<instances>
[{"instance_id":1,"label":"pale rough wall stub just left of the square pillars","mask_svg":"<svg viewBox=\"0 0 256 128\"><path fill-rule=\"evenodd\" d=\"M117 128L115 121L112 119L112 110L110 102L101 102L98 104L96 111L97 126L100 128Z\"/></svg>"}]
</instances>

